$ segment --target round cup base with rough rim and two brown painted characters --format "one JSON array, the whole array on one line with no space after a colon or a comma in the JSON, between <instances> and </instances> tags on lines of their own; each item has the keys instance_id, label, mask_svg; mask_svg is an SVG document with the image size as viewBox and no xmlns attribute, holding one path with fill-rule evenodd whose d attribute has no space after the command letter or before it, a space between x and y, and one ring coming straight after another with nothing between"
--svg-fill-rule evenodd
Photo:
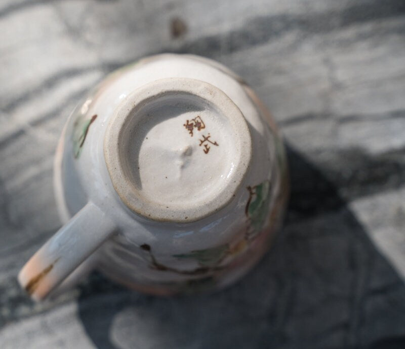
<instances>
[{"instance_id":1,"label":"round cup base with rough rim and two brown painted characters","mask_svg":"<svg viewBox=\"0 0 405 349\"><path fill-rule=\"evenodd\" d=\"M226 206L252 156L244 116L218 88L185 78L135 90L108 123L104 156L112 184L132 210L188 223Z\"/></svg>"}]
</instances>

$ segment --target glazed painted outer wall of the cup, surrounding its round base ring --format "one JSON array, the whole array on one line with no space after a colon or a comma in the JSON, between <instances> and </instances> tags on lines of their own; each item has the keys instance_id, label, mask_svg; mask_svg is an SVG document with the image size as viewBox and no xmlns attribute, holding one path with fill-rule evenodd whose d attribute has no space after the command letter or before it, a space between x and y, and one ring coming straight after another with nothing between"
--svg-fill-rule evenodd
<instances>
[{"instance_id":1,"label":"glazed painted outer wall of the cup, surrounding its round base ring","mask_svg":"<svg viewBox=\"0 0 405 349\"><path fill-rule=\"evenodd\" d=\"M249 129L249 165L232 197L192 222L151 219L132 210L114 187L106 164L105 134L117 108L134 91L163 79L190 79L215 87L234 103ZM72 217L78 222L74 242L66 238L70 250L64 253L77 255L80 269L95 268L118 283L159 295L214 291L238 280L270 247L288 196L284 146L253 90L215 61L173 54L147 57L119 69L79 103L60 138L54 184L62 222L69 224ZM86 246L82 253L80 245ZM28 291L38 299L74 270L57 254L37 263L41 267L31 264L20 282L25 288L31 282ZM43 275L51 265L47 263L63 277L55 276L55 282L44 283L39 292L41 281L32 283L32 277ZM83 268L86 263L91 266Z\"/></svg>"}]
</instances>

